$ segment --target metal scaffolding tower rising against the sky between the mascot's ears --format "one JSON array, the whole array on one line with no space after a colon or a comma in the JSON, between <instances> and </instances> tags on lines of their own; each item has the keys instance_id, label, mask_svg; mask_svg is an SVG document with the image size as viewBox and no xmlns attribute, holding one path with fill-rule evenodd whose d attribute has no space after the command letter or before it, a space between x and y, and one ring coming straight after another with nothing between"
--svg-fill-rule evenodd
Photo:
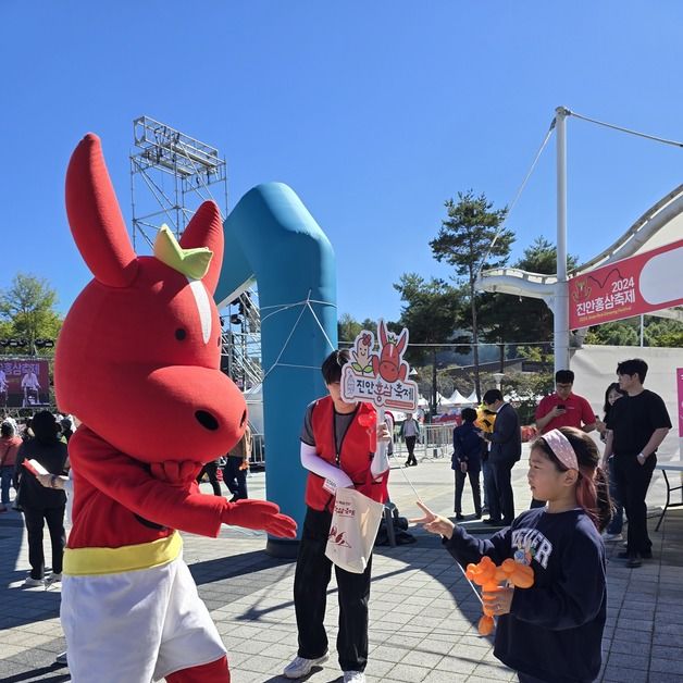
<instances>
[{"instance_id":1,"label":"metal scaffolding tower rising against the sky between the mascot's ears","mask_svg":"<svg viewBox=\"0 0 683 683\"><path fill-rule=\"evenodd\" d=\"M213 199L225 215L227 173L219 150L149 116L133 122L133 247L150 247L165 223L181 237L196 207ZM211 193L216 186L218 197Z\"/></svg>"}]
</instances>

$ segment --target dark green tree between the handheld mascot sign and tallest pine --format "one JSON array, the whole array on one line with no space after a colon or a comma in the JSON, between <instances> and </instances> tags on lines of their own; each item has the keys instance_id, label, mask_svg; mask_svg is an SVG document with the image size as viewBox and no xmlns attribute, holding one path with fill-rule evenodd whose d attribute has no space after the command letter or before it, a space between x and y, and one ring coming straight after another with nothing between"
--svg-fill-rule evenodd
<instances>
[{"instance_id":1,"label":"dark green tree between the handheld mascot sign and tallest pine","mask_svg":"<svg viewBox=\"0 0 683 683\"><path fill-rule=\"evenodd\" d=\"M403 273L394 285L405 306L400 325L410 332L406 358L411 364L424 364L427 355L432 360L432 412L436 411L436 346L419 347L414 344L439 344L449 339L457 324L460 297L457 290L443 280L433 277L425 282L417 273Z\"/></svg>"}]
</instances>

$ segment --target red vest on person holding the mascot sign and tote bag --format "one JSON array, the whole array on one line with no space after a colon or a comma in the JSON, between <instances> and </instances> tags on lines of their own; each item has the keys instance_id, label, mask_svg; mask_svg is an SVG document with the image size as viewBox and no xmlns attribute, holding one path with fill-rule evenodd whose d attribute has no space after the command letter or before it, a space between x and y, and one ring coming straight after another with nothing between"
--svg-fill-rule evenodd
<instances>
[{"instance_id":1,"label":"red vest on person holding the mascot sign and tote bag","mask_svg":"<svg viewBox=\"0 0 683 683\"><path fill-rule=\"evenodd\" d=\"M356 415L349 424L346 435L342 442L338 467L346 472L356 489L361 494L384 502L387 499L386 483L389 477L388 471L373 480L370 472L373 454L370 450L369 427L361 426L359 418L361 415L376 415L376 411L371 403L359 403ZM313 406L311 414L311 425L315 437L315 450L318 455L332 464L337 464L337 448L334 436L334 403L332 398L326 396L321 398ZM374 431L375 425L371 427ZM324 479L313 472L309 472L306 484L306 505L313 510L324 510L332 512L334 507L334 496L323 488Z\"/></svg>"}]
</instances>

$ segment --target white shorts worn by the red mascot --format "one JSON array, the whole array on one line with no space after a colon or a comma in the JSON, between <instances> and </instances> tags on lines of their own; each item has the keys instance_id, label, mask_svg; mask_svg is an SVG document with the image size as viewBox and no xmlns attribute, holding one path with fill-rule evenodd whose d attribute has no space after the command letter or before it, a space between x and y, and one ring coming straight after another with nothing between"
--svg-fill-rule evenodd
<instances>
[{"instance_id":1,"label":"white shorts worn by the red mascot","mask_svg":"<svg viewBox=\"0 0 683 683\"><path fill-rule=\"evenodd\" d=\"M73 683L149 683L225 655L182 557L139 571L64 575L61 620Z\"/></svg>"}]
</instances>

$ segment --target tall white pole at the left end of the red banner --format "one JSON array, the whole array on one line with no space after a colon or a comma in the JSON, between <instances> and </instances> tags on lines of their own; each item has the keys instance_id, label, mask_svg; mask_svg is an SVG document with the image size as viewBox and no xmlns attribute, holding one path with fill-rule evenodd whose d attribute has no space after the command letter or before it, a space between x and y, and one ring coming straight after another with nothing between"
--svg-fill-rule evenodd
<instances>
[{"instance_id":1,"label":"tall white pole at the left end of the red banner","mask_svg":"<svg viewBox=\"0 0 683 683\"><path fill-rule=\"evenodd\" d=\"M556 110L557 135L557 284L555 285L555 371L569 369L569 285L567 282L567 124L564 107Z\"/></svg>"}]
</instances>

